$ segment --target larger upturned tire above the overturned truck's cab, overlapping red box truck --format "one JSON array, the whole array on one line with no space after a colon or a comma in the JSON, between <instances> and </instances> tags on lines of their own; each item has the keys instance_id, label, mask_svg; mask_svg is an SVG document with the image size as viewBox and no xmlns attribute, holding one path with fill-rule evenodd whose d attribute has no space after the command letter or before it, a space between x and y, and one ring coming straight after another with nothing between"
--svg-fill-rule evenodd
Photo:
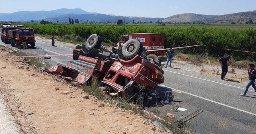
<instances>
[{"instance_id":1,"label":"larger upturned tire above the overturned truck's cab, overlapping red box truck","mask_svg":"<svg viewBox=\"0 0 256 134\"><path fill-rule=\"evenodd\" d=\"M130 39L122 48L122 55L127 59L130 60L135 57L137 54L141 55L143 51L143 45L137 39Z\"/></svg>"}]
</instances>

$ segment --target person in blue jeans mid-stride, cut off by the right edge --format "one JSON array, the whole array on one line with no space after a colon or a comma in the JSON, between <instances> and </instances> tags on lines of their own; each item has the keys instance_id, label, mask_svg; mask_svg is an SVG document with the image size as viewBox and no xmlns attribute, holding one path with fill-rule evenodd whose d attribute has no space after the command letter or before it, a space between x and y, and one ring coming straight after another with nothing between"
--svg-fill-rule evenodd
<instances>
[{"instance_id":1,"label":"person in blue jeans mid-stride, cut off by the right edge","mask_svg":"<svg viewBox=\"0 0 256 134\"><path fill-rule=\"evenodd\" d=\"M254 64L249 64L249 69L248 69L247 74L249 75L249 82L245 88L244 93L241 94L240 96L246 96L246 93L250 86L252 86L254 88L254 92L256 92L256 86L255 86L256 70L254 69ZM256 96L256 94L254 94L253 96Z\"/></svg>"}]
</instances>

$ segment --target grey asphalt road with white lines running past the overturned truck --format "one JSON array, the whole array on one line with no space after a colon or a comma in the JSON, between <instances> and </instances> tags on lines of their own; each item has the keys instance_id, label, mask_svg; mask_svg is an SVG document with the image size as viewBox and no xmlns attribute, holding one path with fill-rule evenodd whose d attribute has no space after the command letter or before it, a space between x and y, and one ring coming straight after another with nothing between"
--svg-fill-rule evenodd
<instances>
[{"instance_id":1,"label":"grey asphalt road with white lines running past the overturned truck","mask_svg":"<svg viewBox=\"0 0 256 134\"><path fill-rule=\"evenodd\" d=\"M4 45L10 46L10 44ZM72 48L59 45L52 47L49 43L37 41L35 49L21 51L33 55L56 55L71 54ZM68 60L72 60L72 55L56 56L46 61L52 65L57 63L66 65ZM164 71L165 82L159 90L172 89L174 100L182 101L173 103L187 110L171 112L171 109L176 108L171 104L147 108L148 110L155 111L158 115L174 113L177 119L182 119L198 109L203 109L204 112L189 122L196 133L253 134L256 132L256 97L252 96L253 89L249 89L248 97L240 97L244 87L178 73L175 69L164 69Z\"/></svg>"}]
</instances>

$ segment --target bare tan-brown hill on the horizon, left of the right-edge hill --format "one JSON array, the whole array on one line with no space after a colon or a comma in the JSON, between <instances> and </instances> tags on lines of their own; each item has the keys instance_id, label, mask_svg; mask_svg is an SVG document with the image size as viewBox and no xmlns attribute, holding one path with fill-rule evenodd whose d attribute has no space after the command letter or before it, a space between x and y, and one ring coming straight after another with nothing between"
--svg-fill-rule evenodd
<instances>
[{"instance_id":1,"label":"bare tan-brown hill on the horizon, left of the right-edge hill","mask_svg":"<svg viewBox=\"0 0 256 134\"><path fill-rule=\"evenodd\" d=\"M218 16L214 15L203 15L203 14L194 14L194 13L186 13L186 14L177 14L174 16L170 16L162 20L162 22L196 22L200 20L210 19Z\"/></svg>"}]
</instances>

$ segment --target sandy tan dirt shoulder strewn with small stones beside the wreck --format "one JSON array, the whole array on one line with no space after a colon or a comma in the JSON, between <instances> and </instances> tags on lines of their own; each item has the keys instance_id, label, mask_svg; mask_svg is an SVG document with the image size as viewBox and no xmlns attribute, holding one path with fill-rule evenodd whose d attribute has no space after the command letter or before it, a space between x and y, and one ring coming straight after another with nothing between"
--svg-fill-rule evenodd
<instances>
[{"instance_id":1,"label":"sandy tan dirt shoulder strewn with small stones beside the wreck","mask_svg":"<svg viewBox=\"0 0 256 134\"><path fill-rule=\"evenodd\" d=\"M0 76L5 83L0 93L25 134L166 133L159 128L152 130L154 126L142 116L94 97L84 99L81 89L42 73L22 59L7 59L7 55L0 50Z\"/></svg>"}]
</instances>

